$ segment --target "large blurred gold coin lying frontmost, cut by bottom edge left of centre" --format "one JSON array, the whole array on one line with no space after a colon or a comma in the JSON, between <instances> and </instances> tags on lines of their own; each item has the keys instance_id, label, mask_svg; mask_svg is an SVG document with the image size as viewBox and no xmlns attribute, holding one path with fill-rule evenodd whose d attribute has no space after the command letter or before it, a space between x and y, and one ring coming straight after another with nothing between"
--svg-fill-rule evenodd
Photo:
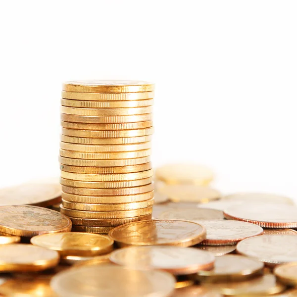
<instances>
[{"instance_id":1,"label":"large blurred gold coin lying frontmost, cut by bottom edge left of centre","mask_svg":"<svg viewBox=\"0 0 297 297\"><path fill-rule=\"evenodd\" d=\"M163 271L105 264L62 271L50 285L59 296L67 297L165 297L174 290L175 279Z\"/></svg>"}]
</instances>

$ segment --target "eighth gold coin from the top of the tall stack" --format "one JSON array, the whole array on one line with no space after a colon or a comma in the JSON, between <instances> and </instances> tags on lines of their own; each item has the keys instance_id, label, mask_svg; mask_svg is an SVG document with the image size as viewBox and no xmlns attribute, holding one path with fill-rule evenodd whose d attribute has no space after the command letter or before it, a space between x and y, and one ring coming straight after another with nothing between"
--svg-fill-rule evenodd
<instances>
[{"instance_id":1,"label":"eighth gold coin from the top of the tall stack","mask_svg":"<svg viewBox=\"0 0 297 297\"><path fill-rule=\"evenodd\" d=\"M129 145L151 141L151 135L126 138L81 138L61 135L60 138L62 142L81 145Z\"/></svg>"}]
</instances>

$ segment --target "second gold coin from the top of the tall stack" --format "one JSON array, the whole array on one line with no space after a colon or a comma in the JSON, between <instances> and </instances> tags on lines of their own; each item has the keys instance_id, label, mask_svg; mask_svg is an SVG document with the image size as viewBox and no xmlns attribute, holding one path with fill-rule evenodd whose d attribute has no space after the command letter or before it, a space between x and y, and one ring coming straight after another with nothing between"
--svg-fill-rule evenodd
<instances>
[{"instance_id":1,"label":"second gold coin from the top of the tall stack","mask_svg":"<svg viewBox=\"0 0 297 297\"><path fill-rule=\"evenodd\" d=\"M62 91L62 98L73 100L90 100L90 101L123 101L123 100L144 100L152 99L154 92L138 93L83 93L83 92L66 92Z\"/></svg>"}]
</instances>

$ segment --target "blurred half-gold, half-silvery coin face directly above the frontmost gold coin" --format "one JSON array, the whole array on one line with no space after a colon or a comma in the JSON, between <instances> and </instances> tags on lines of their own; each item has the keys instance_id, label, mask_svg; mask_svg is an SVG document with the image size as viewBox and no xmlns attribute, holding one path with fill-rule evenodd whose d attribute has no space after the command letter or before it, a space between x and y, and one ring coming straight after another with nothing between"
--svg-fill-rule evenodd
<instances>
[{"instance_id":1,"label":"blurred half-gold, half-silvery coin face directly above the frontmost gold coin","mask_svg":"<svg viewBox=\"0 0 297 297\"><path fill-rule=\"evenodd\" d=\"M194 247L144 246L120 248L111 253L110 260L115 264L130 268L158 269L175 275L210 270L214 264L214 256L211 253Z\"/></svg>"}]
</instances>

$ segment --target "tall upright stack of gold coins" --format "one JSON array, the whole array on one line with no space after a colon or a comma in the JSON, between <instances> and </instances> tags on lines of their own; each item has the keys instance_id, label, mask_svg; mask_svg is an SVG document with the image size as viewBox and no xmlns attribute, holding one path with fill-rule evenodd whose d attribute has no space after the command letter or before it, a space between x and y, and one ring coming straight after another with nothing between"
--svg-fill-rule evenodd
<instances>
[{"instance_id":1,"label":"tall upright stack of gold coins","mask_svg":"<svg viewBox=\"0 0 297 297\"><path fill-rule=\"evenodd\" d=\"M63 84L60 211L72 231L104 234L151 218L153 90L139 81Z\"/></svg>"}]
</instances>

